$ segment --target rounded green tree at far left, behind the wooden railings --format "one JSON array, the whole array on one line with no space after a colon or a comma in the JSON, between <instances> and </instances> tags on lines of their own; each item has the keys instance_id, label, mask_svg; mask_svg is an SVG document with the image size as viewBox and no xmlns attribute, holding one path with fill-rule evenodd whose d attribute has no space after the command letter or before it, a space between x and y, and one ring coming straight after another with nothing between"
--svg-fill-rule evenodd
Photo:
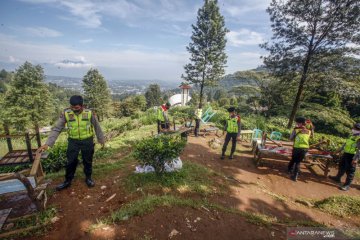
<instances>
[{"instance_id":1,"label":"rounded green tree at far left, behind the wooden railings","mask_svg":"<svg viewBox=\"0 0 360 240\"><path fill-rule=\"evenodd\" d=\"M24 130L29 123L38 125L47 121L53 113L50 106L50 93L44 83L43 68L25 62L15 71L10 89L2 101L1 120Z\"/></svg>"}]
</instances>

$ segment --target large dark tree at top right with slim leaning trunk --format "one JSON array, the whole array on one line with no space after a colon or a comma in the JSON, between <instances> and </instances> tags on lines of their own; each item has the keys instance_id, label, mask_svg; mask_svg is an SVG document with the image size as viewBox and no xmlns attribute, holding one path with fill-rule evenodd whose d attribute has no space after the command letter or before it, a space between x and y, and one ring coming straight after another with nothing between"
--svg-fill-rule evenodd
<instances>
[{"instance_id":1,"label":"large dark tree at top right with slim leaning trunk","mask_svg":"<svg viewBox=\"0 0 360 240\"><path fill-rule=\"evenodd\" d=\"M264 64L284 81L298 81L289 117L291 127L312 73L341 67L339 61L359 50L360 2L357 0L273 0L267 12L273 30ZM350 45L354 43L354 47Z\"/></svg>"}]
</instances>

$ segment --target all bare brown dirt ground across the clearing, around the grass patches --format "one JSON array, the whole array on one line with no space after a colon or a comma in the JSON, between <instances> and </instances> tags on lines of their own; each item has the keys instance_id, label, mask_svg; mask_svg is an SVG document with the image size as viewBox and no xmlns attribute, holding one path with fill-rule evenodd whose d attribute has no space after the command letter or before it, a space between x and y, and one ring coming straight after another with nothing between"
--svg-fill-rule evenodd
<instances>
[{"instance_id":1,"label":"all bare brown dirt ground across the clearing, around the grass patches","mask_svg":"<svg viewBox=\"0 0 360 240\"><path fill-rule=\"evenodd\" d=\"M302 168L300 181L295 183L284 174L284 164L268 162L264 167L256 168L252 155L244 146L236 152L234 160L220 160L220 150L207 145L211 138L190 137L181 158L208 166L228 178L230 192L211 197L212 202L278 219L314 220L342 229L360 227L359 218L340 219L295 203L295 199L301 197L321 199L337 194L360 195L359 183L355 183L355 188L349 192L340 192L333 183L305 168ZM286 239L283 226L259 227L239 215L179 207L161 207L143 217L89 232L89 226L98 219L109 216L112 210L131 200L119 183L133 169L134 165L129 164L125 170L95 178L96 187L92 189L88 189L79 177L69 189L56 192L50 204L59 209L60 220L41 239L168 239L174 230L177 234L172 239ZM60 181L54 181L52 187ZM113 194L116 196L106 202ZM284 200L279 201L279 196Z\"/></svg>"}]
</instances>

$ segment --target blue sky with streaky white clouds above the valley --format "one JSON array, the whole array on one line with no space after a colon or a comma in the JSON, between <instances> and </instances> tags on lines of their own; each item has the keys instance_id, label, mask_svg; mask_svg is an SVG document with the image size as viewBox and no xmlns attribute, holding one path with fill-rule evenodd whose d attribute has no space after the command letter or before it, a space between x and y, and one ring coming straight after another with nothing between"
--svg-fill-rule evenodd
<instances>
[{"instance_id":1,"label":"blue sky with streaky white clouds above the valley","mask_svg":"<svg viewBox=\"0 0 360 240\"><path fill-rule=\"evenodd\" d=\"M203 0L0 1L0 69L25 61L46 75L181 82L192 24ZM253 69L270 40L270 0L218 0L225 18L226 74Z\"/></svg>"}]
</instances>

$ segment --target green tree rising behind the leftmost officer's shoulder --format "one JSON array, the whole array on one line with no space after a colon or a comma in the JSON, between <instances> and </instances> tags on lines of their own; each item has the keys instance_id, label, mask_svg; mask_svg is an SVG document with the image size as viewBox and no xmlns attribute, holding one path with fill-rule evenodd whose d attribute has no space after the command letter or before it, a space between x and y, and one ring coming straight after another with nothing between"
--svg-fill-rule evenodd
<instances>
[{"instance_id":1,"label":"green tree rising behind the leftmost officer's shoulder","mask_svg":"<svg viewBox=\"0 0 360 240\"><path fill-rule=\"evenodd\" d=\"M99 120L109 114L111 102L110 91L104 77L97 69L90 69L83 78L85 103L96 111Z\"/></svg>"}]
</instances>

